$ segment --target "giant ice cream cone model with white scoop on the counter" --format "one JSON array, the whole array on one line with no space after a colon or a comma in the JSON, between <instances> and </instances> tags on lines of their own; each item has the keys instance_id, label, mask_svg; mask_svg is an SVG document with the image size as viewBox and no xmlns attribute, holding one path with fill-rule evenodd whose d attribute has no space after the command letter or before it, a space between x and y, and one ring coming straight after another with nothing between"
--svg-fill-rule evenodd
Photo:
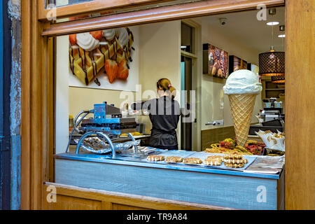
<instances>
[{"instance_id":1,"label":"giant ice cream cone model with white scoop on the counter","mask_svg":"<svg viewBox=\"0 0 315 224\"><path fill-rule=\"evenodd\" d=\"M226 80L223 91L230 100L237 145L244 147L248 139L255 99L262 91L259 77L252 71L235 71Z\"/></svg>"}]
</instances>

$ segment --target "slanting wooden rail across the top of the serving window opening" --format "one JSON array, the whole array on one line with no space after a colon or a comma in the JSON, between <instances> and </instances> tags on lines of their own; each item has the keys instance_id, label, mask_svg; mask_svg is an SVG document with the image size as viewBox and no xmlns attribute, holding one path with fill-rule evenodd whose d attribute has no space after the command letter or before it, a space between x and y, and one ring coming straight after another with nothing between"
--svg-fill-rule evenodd
<instances>
[{"instance_id":1,"label":"slanting wooden rail across the top of the serving window opening","mask_svg":"<svg viewBox=\"0 0 315 224\"><path fill-rule=\"evenodd\" d=\"M283 6L284 0L209 0L183 3L174 6L163 6L160 8L149 8L147 10L120 13L116 15L104 15L97 18L55 23L50 25L48 29L44 29L42 35L61 36L113 27L232 13L241 10L256 9L260 3L264 3L265 6Z\"/></svg>"}]
</instances>

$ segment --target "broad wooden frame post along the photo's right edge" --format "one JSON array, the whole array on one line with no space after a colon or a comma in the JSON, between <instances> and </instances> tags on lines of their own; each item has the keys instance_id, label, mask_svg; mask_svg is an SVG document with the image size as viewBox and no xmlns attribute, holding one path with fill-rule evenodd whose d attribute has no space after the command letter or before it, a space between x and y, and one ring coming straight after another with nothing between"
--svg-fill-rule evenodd
<instances>
[{"instance_id":1,"label":"broad wooden frame post along the photo's right edge","mask_svg":"<svg viewBox=\"0 0 315 224\"><path fill-rule=\"evenodd\" d=\"M315 209L314 15L315 1L286 0L286 209Z\"/></svg>"}]
</instances>

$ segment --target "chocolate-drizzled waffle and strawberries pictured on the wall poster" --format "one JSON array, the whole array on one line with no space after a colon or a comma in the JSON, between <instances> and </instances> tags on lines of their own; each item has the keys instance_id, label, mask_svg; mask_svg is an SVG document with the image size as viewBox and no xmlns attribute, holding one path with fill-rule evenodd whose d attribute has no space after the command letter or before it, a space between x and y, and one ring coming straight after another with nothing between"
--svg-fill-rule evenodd
<instances>
[{"instance_id":1,"label":"chocolate-drizzled waffle and strawberries pictured on the wall poster","mask_svg":"<svg viewBox=\"0 0 315 224\"><path fill-rule=\"evenodd\" d=\"M121 28L127 31L127 43L118 41L119 32L111 40L107 40L102 31L90 32L90 34L99 41L99 44L92 50L82 48L76 39L76 34L69 36L69 67L74 76L81 83L90 85L94 80L97 85L101 85L97 77L102 73L106 73L109 83L114 80L127 80L129 76L130 66L128 62L132 62L131 53L134 48L134 35L129 28ZM120 29L120 31L121 31ZM92 39L93 40L93 39Z\"/></svg>"}]
</instances>

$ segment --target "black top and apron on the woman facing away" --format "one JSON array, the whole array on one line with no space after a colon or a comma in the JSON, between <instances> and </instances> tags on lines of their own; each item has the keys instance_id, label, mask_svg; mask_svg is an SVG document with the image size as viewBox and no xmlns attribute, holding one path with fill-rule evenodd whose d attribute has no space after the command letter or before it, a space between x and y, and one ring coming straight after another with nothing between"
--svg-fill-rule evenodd
<instances>
[{"instance_id":1,"label":"black top and apron on the woman facing away","mask_svg":"<svg viewBox=\"0 0 315 224\"><path fill-rule=\"evenodd\" d=\"M176 128L181 116L179 102L170 97L151 99L144 104L152 123L149 145L155 148L178 147Z\"/></svg>"}]
</instances>

